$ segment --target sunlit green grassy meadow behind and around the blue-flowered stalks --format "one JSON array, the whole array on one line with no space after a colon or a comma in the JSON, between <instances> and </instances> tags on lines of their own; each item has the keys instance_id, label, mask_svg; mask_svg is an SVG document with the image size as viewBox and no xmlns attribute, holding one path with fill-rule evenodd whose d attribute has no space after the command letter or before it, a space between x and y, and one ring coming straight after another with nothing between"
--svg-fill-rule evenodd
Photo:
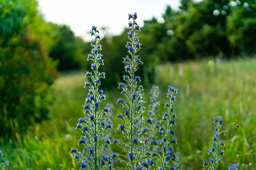
<instances>
[{"instance_id":1,"label":"sunlit green grassy meadow behind and around the blue-flowered stalks","mask_svg":"<svg viewBox=\"0 0 256 170\"><path fill-rule=\"evenodd\" d=\"M178 88L177 124L174 127L184 170L201 170L208 159L207 148L213 136L212 117L221 115L223 130L227 130L224 162L220 170L240 163L239 170L256 169L256 59L230 62L198 61L166 64L158 67L156 85L160 86L161 111L167 101L167 85ZM108 76L107 76L108 77ZM77 146L81 135L75 130L77 119L83 116L82 104L87 91L83 88L84 73L61 74L55 82L55 104L50 120L35 125L17 142L0 147L12 170L79 169L68 154ZM146 89L145 91L149 91ZM146 96L148 97L146 92ZM114 105L114 117L121 112L116 106L119 91L107 92L107 102ZM159 112L160 116L162 112ZM117 120L113 120L115 127ZM236 127L239 124L239 128ZM118 130L117 130L118 131ZM118 136L119 132L113 134ZM17 136L19 139L19 137ZM113 151L118 151L115 145Z\"/></svg>"}]
</instances>

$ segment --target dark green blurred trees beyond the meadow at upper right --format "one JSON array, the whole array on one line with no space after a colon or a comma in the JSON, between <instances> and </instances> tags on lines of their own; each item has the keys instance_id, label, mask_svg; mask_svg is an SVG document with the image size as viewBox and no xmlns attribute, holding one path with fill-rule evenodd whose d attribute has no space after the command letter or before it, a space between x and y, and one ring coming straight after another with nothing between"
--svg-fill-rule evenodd
<instances>
[{"instance_id":1,"label":"dark green blurred trees beyond the meadow at upper right","mask_svg":"<svg viewBox=\"0 0 256 170\"><path fill-rule=\"evenodd\" d=\"M181 0L181 10L176 11L167 6L164 23L148 26L145 22L142 28L142 33L156 37L149 54L163 63L219 54L226 58L255 54L256 3L239 2L232 6L229 0ZM151 46L148 42L144 45Z\"/></svg>"}]
</instances>

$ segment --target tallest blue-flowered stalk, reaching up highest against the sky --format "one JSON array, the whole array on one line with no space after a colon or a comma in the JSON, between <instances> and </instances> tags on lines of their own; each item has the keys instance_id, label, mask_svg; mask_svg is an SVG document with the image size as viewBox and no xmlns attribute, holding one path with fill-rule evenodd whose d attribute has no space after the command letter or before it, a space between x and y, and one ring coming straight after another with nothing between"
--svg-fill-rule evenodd
<instances>
[{"instance_id":1,"label":"tallest blue-flowered stalk, reaching up highest against the sky","mask_svg":"<svg viewBox=\"0 0 256 170\"><path fill-rule=\"evenodd\" d=\"M137 13L128 14L128 20L130 19L132 20L128 23L131 28L128 32L128 39L130 41L127 42L126 47L128 48L128 53L131 55L131 58L128 56L124 58L124 63L127 64L125 71L128 75L123 76L125 83L119 83L119 88L122 89L122 94L125 95L126 99L118 99L117 101L117 104L121 104L125 111L125 115L121 113L117 114L117 117L122 120L122 125L119 125L119 130L122 131L125 140L114 139L114 143L118 144L126 153L126 155L123 156L126 158L125 160L121 158L118 160L125 165L125 169L134 170L135 168L143 166L143 160L145 159L143 154L152 145L157 145L157 141L138 147L138 143L143 140L144 135L148 132L146 125L147 123L152 123L152 119L147 118L145 122L141 121L143 97L138 90L141 80L139 76L135 76L135 71L137 71L138 66L142 64L140 57L137 55L141 45L139 36L137 35L137 32L140 31L140 26L136 23ZM149 160L149 162L151 162L151 160Z\"/></svg>"}]
</instances>

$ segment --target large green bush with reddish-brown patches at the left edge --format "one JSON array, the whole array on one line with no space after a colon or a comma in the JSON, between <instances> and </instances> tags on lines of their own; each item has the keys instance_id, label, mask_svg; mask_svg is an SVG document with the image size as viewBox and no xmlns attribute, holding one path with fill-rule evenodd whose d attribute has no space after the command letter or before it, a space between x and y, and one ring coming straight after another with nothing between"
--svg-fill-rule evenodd
<instances>
[{"instance_id":1,"label":"large green bush with reddish-brown patches at the left edge","mask_svg":"<svg viewBox=\"0 0 256 170\"><path fill-rule=\"evenodd\" d=\"M32 20L35 0L4 1L0 7L0 136L23 132L33 122L47 118L52 85L57 72L48 57L44 34L39 36ZM33 17L31 17L33 16ZM42 23L42 26L44 23ZM37 34L37 35L35 35Z\"/></svg>"}]
</instances>

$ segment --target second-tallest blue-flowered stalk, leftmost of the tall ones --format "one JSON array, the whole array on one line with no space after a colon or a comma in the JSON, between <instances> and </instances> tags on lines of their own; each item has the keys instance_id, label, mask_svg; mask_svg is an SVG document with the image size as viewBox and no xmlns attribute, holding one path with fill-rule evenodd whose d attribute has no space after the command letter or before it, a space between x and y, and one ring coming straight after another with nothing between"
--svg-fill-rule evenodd
<instances>
[{"instance_id":1,"label":"second-tallest blue-flowered stalk, leftmost of the tall ones","mask_svg":"<svg viewBox=\"0 0 256 170\"><path fill-rule=\"evenodd\" d=\"M91 79L91 82L85 82L84 88L88 88L88 97L85 99L84 113L87 114L84 118L79 118L76 129L81 129L84 137L79 139L79 145L83 144L84 154L76 148L71 148L70 153L75 153L74 156L81 164L81 169L99 170L102 166L111 164L103 154L105 147L110 144L110 139L105 139L104 133L108 128L112 128L110 123L106 122L108 108L103 110L100 108L102 100L105 100L106 95L100 89L100 79L105 78L105 73L99 71L99 66L104 65L102 54L102 45L98 44L99 31L96 26L90 31L94 40L91 40L92 54L88 55L87 61L92 61L92 72L87 71L85 77ZM88 153L86 153L88 151ZM101 162L101 163L100 163Z\"/></svg>"}]
</instances>

